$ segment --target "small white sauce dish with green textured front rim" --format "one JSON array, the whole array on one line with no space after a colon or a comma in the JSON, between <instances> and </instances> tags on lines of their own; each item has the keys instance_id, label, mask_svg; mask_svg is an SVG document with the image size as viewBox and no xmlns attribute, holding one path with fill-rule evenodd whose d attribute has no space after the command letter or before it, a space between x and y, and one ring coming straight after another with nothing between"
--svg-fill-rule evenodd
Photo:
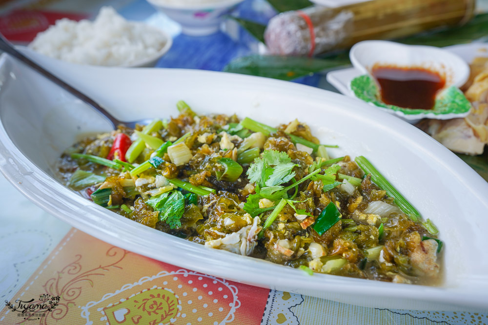
<instances>
[{"instance_id":1,"label":"small white sauce dish with green textured front rim","mask_svg":"<svg viewBox=\"0 0 488 325\"><path fill-rule=\"evenodd\" d=\"M349 57L354 68L364 74L350 81L349 91L370 105L397 115L409 123L416 123L422 118L450 119L469 114L471 104L459 90L468 80L469 66L461 57L447 50L385 40L366 40L355 44ZM426 68L445 76L446 84L437 92L436 104L432 110L387 105L378 97L379 86L372 75L376 64Z\"/></svg>"}]
</instances>

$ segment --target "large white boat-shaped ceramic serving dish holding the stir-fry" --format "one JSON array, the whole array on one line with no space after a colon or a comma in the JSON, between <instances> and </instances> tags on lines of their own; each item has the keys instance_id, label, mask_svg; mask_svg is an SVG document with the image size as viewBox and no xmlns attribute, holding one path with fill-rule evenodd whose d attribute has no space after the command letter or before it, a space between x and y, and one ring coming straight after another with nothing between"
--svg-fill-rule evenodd
<instances>
[{"instance_id":1,"label":"large white boat-shaped ceramic serving dish holding the stir-fry","mask_svg":"<svg viewBox=\"0 0 488 325\"><path fill-rule=\"evenodd\" d=\"M27 53L32 56L32 54ZM79 66L33 55L122 120L167 117L184 99L201 114L237 113L270 125L296 117L332 156L363 154L440 230L444 280L425 287L308 276L299 269L213 250L108 211L53 178L61 152L107 122L59 87L0 57L0 170L49 213L108 243L199 272L262 287L380 308L488 307L488 183L415 127L355 99L296 83L179 69ZM229 109L230 108L230 109Z\"/></svg>"}]
</instances>

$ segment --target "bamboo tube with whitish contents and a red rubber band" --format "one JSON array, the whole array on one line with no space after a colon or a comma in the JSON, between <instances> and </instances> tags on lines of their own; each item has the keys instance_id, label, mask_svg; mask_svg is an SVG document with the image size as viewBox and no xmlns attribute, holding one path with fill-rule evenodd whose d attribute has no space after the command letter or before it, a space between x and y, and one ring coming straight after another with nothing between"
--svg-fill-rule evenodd
<instances>
[{"instance_id":1,"label":"bamboo tube with whitish contents and a red rubber band","mask_svg":"<svg viewBox=\"0 0 488 325\"><path fill-rule=\"evenodd\" d=\"M271 54L316 55L366 39L400 38L466 23L475 0L372 0L338 8L314 6L270 20Z\"/></svg>"}]
</instances>

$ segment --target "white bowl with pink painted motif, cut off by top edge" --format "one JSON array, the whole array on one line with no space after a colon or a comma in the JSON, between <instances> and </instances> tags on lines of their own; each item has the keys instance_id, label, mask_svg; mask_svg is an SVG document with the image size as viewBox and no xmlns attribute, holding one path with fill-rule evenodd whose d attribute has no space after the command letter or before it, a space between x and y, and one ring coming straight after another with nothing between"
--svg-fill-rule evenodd
<instances>
[{"instance_id":1,"label":"white bowl with pink painted motif, cut off by top edge","mask_svg":"<svg viewBox=\"0 0 488 325\"><path fill-rule=\"evenodd\" d=\"M220 29L224 16L244 0L211 0L203 4L199 1L147 0L156 9L180 23L182 32L191 36L205 36Z\"/></svg>"}]
</instances>

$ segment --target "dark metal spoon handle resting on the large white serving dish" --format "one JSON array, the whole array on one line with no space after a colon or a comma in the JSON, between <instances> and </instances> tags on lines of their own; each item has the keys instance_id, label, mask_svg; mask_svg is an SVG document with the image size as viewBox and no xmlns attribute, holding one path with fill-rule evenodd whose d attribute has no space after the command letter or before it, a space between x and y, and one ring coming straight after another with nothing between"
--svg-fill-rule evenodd
<instances>
[{"instance_id":1,"label":"dark metal spoon handle resting on the large white serving dish","mask_svg":"<svg viewBox=\"0 0 488 325\"><path fill-rule=\"evenodd\" d=\"M42 76L45 76L55 84L61 86L63 89L65 89L67 92L72 94L73 96L81 99L83 102L87 103L90 105L95 111L100 113L103 117L105 117L107 120L110 121L112 124L113 128L116 129L119 124L124 124L123 122L119 121L116 119L114 116L112 116L110 113L108 113L99 103L97 103L95 100L91 99L90 97L84 95L81 93L79 90L74 88L73 86L67 84L57 76L54 76L51 74L49 71L46 69L42 68L40 65L38 65L36 62L32 61L30 58L24 56L22 53L20 53L8 40L6 40L3 35L0 34L0 50L10 54L12 57L17 58L18 60L22 61L24 64L28 65L32 69L36 70L38 73L40 73Z\"/></svg>"}]
</instances>

